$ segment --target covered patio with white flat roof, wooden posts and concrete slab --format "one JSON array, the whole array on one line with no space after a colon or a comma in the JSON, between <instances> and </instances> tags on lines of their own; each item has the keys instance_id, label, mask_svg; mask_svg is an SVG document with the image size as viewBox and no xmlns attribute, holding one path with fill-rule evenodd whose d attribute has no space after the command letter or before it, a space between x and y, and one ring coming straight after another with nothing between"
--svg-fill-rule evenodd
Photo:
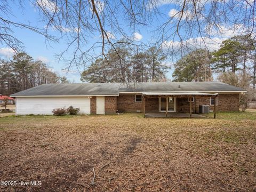
<instances>
[{"instance_id":1,"label":"covered patio with white flat roof, wooden posts and concrete slab","mask_svg":"<svg viewBox=\"0 0 256 192\"><path fill-rule=\"evenodd\" d=\"M212 98L214 99L213 117L216 118L217 113L217 97L218 93L202 93L202 92L142 92L142 111L144 117L177 117L177 118L205 118L205 116L197 114L195 98ZM158 98L158 113L146 111L146 99ZM189 113L177 113L177 99L188 98ZM194 98L194 100L193 100ZM194 102L194 103L193 103ZM192 114L192 105L195 105L194 114Z\"/></svg>"}]
</instances>

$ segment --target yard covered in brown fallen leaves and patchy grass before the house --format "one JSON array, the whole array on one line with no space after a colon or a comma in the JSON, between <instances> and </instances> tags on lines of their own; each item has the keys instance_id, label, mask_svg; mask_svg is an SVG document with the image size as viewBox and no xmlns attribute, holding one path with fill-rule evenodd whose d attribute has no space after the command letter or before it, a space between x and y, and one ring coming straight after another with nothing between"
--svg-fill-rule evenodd
<instances>
[{"instance_id":1,"label":"yard covered in brown fallen leaves and patchy grass before the house","mask_svg":"<svg viewBox=\"0 0 256 192\"><path fill-rule=\"evenodd\" d=\"M42 185L0 191L255 191L256 113L217 118L2 117L0 180Z\"/></svg>"}]
</instances>

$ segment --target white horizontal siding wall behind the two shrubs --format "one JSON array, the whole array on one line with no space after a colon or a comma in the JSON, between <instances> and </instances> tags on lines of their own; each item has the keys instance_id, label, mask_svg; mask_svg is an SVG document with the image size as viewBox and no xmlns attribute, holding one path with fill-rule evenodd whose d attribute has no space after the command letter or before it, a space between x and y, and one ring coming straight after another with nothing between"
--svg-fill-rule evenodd
<instances>
[{"instance_id":1,"label":"white horizontal siding wall behind the two shrubs","mask_svg":"<svg viewBox=\"0 0 256 192\"><path fill-rule=\"evenodd\" d=\"M80 108L79 114L90 114L88 97L17 97L17 115L52 115L55 108Z\"/></svg>"}]
</instances>

